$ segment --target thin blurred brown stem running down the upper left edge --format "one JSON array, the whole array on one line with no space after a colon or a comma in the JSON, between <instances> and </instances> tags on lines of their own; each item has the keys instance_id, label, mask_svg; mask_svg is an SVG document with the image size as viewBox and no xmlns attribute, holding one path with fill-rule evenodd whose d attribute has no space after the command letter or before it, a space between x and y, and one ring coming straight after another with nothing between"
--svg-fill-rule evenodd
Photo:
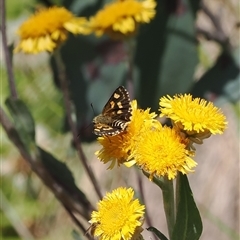
<instances>
[{"instance_id":1,"label":"thin blurred brown stem running down the upper left edge","mask_svg":"<svg viewBox=\"0 0 240 240\"><path fill-rule=\"evenodd\" d=\"M8 74L8 84L10 89L10 95L12 98L17 99L17 90L15 86L15 79L13 75L12 61L9 54L9 49L7 46L7 36L6 36L6 15L5 15L5 0L0 0L0 16L1 16L1 32L2 32L2 45L5 53L5 62Z\"/></svg>"}]
</instances>

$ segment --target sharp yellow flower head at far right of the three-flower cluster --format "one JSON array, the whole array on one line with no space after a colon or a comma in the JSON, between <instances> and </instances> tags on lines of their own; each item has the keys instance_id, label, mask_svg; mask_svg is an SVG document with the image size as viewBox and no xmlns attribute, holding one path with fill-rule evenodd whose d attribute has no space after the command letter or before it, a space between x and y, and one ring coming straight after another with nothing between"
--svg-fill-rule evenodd
<instances>
[{"instance_id":1,"label":"sharp yellow flower head at far right of the three-flower cluster","mask_svg":"<svg viewBox=\"0 0 240 240\"><path fill-rule=\"evenodd\" d=\"M190 94L162 97L159 102L160 117L166 116L188 135L200 138L211 134L222 134L226 129L226 117L212 102L193 99Z\"/></svg>"}]
</instances>

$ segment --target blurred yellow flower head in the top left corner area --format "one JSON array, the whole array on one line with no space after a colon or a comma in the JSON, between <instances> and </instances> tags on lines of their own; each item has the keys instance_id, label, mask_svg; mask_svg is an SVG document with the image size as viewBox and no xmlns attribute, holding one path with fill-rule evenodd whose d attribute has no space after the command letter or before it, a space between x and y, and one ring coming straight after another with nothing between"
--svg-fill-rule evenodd
<instances>
[{"instance_id":1,"label":"blurred yellow flower head in the top left corner area","mask_svg":"<svg viewBox=\"0 0 240 240\"><path fill-rule=\"evenodd\" d=\"M68 33L86 33L87 20L77 18L63 7L42 9L26 20L18 29L20 43L15 52L52 52L67 39Z\"/></svg>"}]
</instances>

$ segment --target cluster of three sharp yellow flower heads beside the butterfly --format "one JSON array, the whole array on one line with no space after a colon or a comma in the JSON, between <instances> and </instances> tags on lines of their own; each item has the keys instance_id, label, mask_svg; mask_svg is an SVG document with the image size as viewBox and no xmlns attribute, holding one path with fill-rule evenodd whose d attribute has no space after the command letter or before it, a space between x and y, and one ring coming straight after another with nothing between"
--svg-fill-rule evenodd
<instances>
[{"instance_id":1,"label":"cluster of three sharp yellow flower heads beside the butterfly","mask_svg":"<svg viewBox=\"0 0 240 240\"><path fill-rule=\"evenodd\" d=\"M149 178L174 179L178 172L187 174L197 163L192 159L192 144L202 143L211 134L221 134L226 128L225 116L211 102L193 99L191 95L167 96L160 99L160 117L171 119L173 127L162 126L150 109L137 108L132 101L132 117L126 131L116 136L99 137L102 149L96 152L110 167L117 163L134 164Z\"/></svg>"}]
</instances>

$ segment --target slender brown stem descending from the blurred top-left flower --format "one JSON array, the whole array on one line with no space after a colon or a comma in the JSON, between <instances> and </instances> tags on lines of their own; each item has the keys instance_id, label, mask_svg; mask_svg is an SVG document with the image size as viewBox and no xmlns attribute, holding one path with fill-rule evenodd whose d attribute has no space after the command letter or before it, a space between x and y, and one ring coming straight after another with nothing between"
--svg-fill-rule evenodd
<instances>
[{"instance_id":1,"label":"slender brown stem descending from the blurred top-left flower","mask_svg":"<svg viewBox=\"0 0 240 240\"><path fill-rule=\"evenodd\" d=\"M64 104L65 104L65 109L66 109L66 114L67 114L67 120L68 120L68 124L69 124L70 130L71 130L71 133L73 135L74 146L77 149L80 161L81 161L84 169L86 170L99 199L101 199L102 194L100 191L100 187L96 181L96 178L92 172L92 169L87 164L87 158L83 152L82 144L81 144L80 138L78 137L78 134L77 134L76 124L73 122L73 119L72 119L72 113L71 113L72 107L71 107L71 100L70 100L69 91L68 91L68 82L66 79L65 67L64 67L64 64L63 64L62 58L61 58L60 48L58 50L56 50L55 53L56 53L56 61L57 61L58 71L59 71L59 80L60 80L60 85L61 85L61 89L63 92L63 99L64 99Z\"/></svg>"}]
</instances>

